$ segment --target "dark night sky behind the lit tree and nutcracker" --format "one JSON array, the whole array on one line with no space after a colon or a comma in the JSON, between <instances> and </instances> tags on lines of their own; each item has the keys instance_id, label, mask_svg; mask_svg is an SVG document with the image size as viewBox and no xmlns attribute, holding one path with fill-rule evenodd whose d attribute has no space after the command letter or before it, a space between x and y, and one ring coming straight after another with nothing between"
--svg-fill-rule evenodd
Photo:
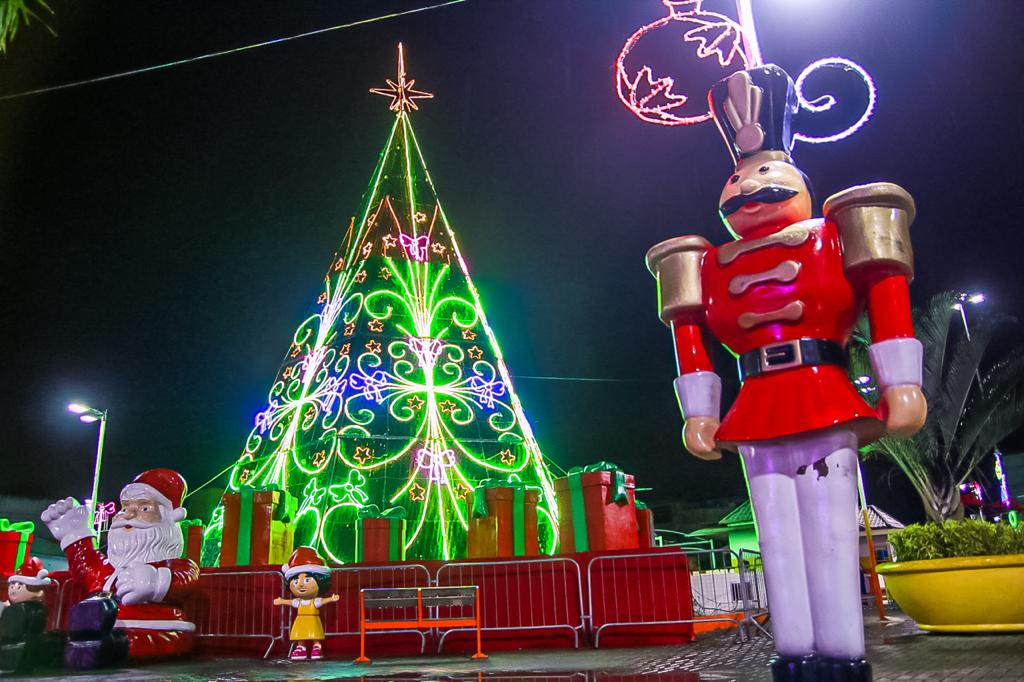
<instances>
[{"instance_id":1,"label":"dark night sky behind the lit tree and nutcracker","mask_svg":"<svg viewBox=\"0 0 1024 682\"><path fill-rule=\"evenodd\" d=\"M57 37L23 30L0 94L423 4L53 0ZM902 184L919 207L914 301L984 291L1024 313L1024 3L755 5L766 61L796 75L842 55L878 83L860 133L798 145L818 200ZM95 427L65 412L72 399L110 410L101 499L145 468L195 486L238 457L386 141L392 115L367 89L394 77L399 40L436 95L413 124L548 458L616 462L648 499L741 494L734 456L683 451L643 263L669 237L727 239L716 208L731 165L713 124L643 124L614 92L623 43L664 13L658 0L468 0L0 101L0 494L87 495ZM663 56L695 101L722 75L694 67L690 45ZM887 472L868 467L868 496L913 520L914 494Z\"/></svg>"}]
</instances>

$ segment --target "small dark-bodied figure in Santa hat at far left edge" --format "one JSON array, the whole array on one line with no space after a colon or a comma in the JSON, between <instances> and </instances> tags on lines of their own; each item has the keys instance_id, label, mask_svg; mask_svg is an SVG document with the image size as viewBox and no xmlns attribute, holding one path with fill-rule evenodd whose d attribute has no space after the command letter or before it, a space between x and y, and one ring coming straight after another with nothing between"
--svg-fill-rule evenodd
<instances>
[{"instance_id":1,"label":"small dark-bodied figure in Santa hat at far left edge","mask_svg":"<svg viewBox=\"0 0 1024 682\"><path fill-rule=\"evenodd\" d=\"M60 635L44 632L43 591L52 583L37 557L7 578L7 601L0 612L0 673L24 674L58 658Z\"/></svg>"}]
</instances>

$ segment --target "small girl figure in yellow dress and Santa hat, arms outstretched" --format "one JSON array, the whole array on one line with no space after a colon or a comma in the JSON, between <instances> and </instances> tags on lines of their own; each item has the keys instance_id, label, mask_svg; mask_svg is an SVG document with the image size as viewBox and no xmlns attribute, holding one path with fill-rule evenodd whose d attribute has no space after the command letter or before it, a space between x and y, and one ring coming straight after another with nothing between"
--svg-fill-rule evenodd
<instances>
[{"instance_id":1,"label":"small girl figure in yellow dress and Santa hat, arms outstretched","mask_svg":"<svg viewBox=\"0 0 1024 682\"><path fill-rule=\"evenodd\" d=\"M305 660L307 645L309 657L318 660L324 657L321 642L324 640L324 624L319 620L319 609L324 604L331 604L339 599L338 595L322 597L331 590L331 571L324 560L316 556L312 547L300 547L292 554L288 563L281 567L288 582L288 589L294 599L273 600L275 606L291 605L298 609L292 622L292 630L288 637L295 642L292 648L292 660Z\"/></svg>"}]
</instances>

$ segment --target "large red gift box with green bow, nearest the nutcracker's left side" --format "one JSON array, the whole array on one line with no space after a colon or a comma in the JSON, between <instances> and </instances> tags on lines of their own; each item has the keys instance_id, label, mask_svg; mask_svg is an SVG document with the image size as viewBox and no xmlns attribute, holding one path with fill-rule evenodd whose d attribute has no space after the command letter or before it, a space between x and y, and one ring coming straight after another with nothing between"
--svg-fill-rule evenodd
<instances>
[{"instance_id":1,"label":"large red gift box with green bow, nearest the nutcracker's left side","mask_svg":"<svg viewBox=\"0 0 1024 682\"><path fill-rule=\"evenodd\" d=\"M633 476L608 462L575 467L556 479L560 551L639 547L635 488Z\"/></svg>"}]
</instances>

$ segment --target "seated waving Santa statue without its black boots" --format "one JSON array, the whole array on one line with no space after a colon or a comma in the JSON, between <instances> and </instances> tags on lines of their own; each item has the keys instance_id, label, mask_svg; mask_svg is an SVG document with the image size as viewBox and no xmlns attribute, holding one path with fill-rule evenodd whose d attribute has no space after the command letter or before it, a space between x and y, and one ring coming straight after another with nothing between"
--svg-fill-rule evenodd
<instances>
[{"instance_id":1,"label":"seated waving Santa statue without its black boots","mask_svg":"<svg viewBox=\"0 0 1024 682\"><path fill-rule=\"evenodd\" d=\"M178 655L193 645L196 626L181 606L199 580L199 566L178 558L185 489L184 479L169 469L146 471L126 485L108 534L111 558L93 547L87 511L75 500L58 501L43 513L75 579L89 593L106 592L118 600L114 627L125 631L134 660ZM118 547L135 540L147 540L146 549Z\"/></svg>"}]
</instances>

